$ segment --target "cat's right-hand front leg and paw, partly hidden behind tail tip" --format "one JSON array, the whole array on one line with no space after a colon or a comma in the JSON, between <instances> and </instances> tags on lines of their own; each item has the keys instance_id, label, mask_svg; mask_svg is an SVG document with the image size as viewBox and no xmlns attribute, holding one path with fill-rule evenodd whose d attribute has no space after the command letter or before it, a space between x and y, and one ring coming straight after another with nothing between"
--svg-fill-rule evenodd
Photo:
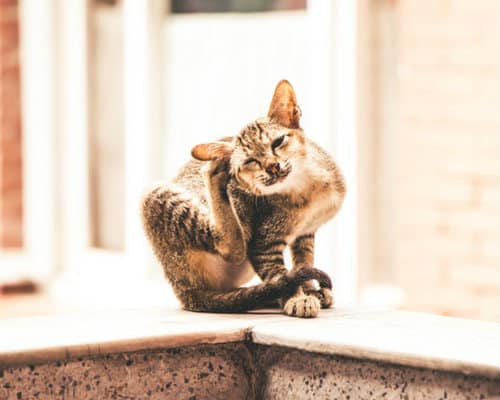
<instances>
[{"instance_id":1,"label":"cat's right-hand front leg and paw, partly hidden behind tail tip","mask_svg":"<svg viewBox=\"0 0 500 400\"><path fill-rule=\"evenodd\" d=\"M314 234L301 235L295 239L291 246L293 269L312 268L314 266ZM306 282L302 293L298 296L315 296L321 304L321 308L329 308L334 304L332 291L329 288L317 289L312 281ZM290 299L291 300L291 299Z\"/></svg>"}]
</instances>

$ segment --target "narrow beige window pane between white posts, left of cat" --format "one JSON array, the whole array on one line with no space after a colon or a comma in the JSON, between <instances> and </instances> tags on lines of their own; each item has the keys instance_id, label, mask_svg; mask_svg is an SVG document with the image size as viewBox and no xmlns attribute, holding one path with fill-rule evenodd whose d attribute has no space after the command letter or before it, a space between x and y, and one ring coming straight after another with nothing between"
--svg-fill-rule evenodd
<instances>
[{"instance_id":1,"label":"narrow beige window pane between white posts, left of cat","mask_svg":"<svg viewBox=\"0 0 500 400\"><path fill-rule=\"evenodd\" d=\"M122 24L121 7L90 10L90 245L108 250L123 250L125 245Z\"/></svg>"}]
</instances>

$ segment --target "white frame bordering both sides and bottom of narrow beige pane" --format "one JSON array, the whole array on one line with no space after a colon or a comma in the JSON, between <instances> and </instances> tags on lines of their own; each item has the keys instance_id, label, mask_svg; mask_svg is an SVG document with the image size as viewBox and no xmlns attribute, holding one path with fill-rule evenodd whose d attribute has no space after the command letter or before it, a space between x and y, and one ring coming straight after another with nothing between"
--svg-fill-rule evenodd
<instances>
[{"instance_id":1,"label":"white frame bordering both sides and bottom of narrow beige pane","mask_svg":"<svg viewBox=\"0 0 500 400\"><path fill-rule=\"evenodd\" d=\"M89 92L88 17L85 0L68 0L63 7L60 57L63 61L61 104L62 176L62 262L65 280L92 282L96 276L120 276L122 285L133 285L151 273L152 257L140 221L140 197L157 170L160 124L155 109L161 98L152 95L156 48L155 19L161 2L124 0L124 135L125 135L125 234L123 251L90 244L89 218ZM156 8L155 8L156 7ZM159 46L158 46L159 47ZM66 62L64 62L66 60ZM80 82L75 87L74 82ZM65 134L71 132L70 134ZM158 172L156 172L158 174ZM76 178L75 178L76 177ZM82 187L83 183L83 187ZM75 210L84 210L75 215ZM105 271L103 271L105 269ZM60 285L58 285L60 286ZM71 286L71 285L70 285Z\"/></svg>"}]
</instances>

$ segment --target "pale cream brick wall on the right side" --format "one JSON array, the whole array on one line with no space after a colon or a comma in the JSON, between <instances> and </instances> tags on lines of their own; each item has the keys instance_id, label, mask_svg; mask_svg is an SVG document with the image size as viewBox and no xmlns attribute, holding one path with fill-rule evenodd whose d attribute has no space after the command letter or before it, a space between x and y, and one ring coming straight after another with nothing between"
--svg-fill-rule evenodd
<instances>
[{"instance_id":1,"label":"pale cream brick wall on the right side","mask_svg":"<svg viewBox=\"0 0 500 400\"><path fill-rule=\"evenodd\" d=\"M410 308L500 319L500 2L392 3L393 279Z\"/></svg>"}]
</instances>

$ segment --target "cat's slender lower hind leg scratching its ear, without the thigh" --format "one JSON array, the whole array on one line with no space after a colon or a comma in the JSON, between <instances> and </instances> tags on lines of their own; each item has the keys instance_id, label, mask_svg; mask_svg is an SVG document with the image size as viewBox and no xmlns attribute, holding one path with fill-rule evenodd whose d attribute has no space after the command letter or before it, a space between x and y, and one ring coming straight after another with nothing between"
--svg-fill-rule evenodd
<instances>
[{"instance_id":1,"label":"cat's slender lower hind leg scratching its ear, without the thigh","mask_svg":"<svg viewBox=\"0 0 500 400\"><path fill-rule=\"evenodd\" d=\"M208 190L215 248L225 261L241 264L247 257L247 246L240 221L226 190L230 179L228 162L225 160L207 162L204 179Z\"/></svg>"}]
</instances>

